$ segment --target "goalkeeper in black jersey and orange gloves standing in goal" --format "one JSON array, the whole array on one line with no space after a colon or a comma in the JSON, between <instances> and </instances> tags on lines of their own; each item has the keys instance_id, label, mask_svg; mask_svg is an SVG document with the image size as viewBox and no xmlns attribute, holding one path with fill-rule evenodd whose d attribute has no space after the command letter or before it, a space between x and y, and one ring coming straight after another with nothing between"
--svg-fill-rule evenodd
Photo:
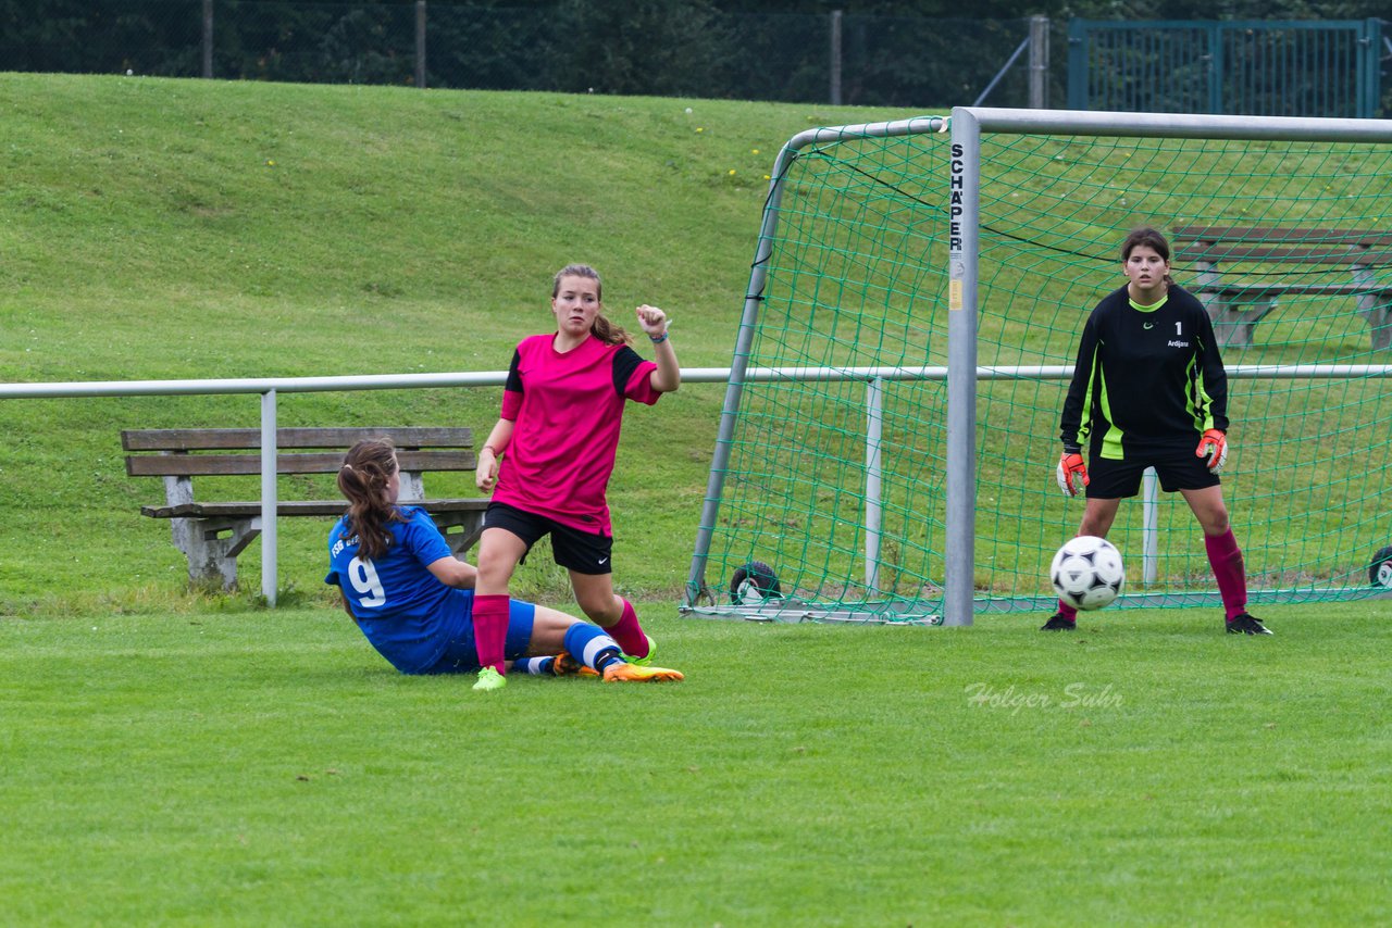
<instances>
[{"instance_id":1,"label":"goalkeeper in black jersey and orange gloves standing in goal","mask_svg":"<svg viewBox=\"0 0 1392 928\"><path fill-rule=\"evenodd\" d=\"M1228 376L1212 321L1171 278L1169 242L1158 231L1133 230L1121 255L1128 284L1083 326L1063 401L1058 484L1070 497L1086 488L1077 533L1105 538L1122 498L1134 497L1154 467L1161 488L1178 491L1203 527L1228 632L1271 634L1247 612L1247 575L1218 480L1228 461ZM1043 630L1076 622L1077 611L1059 602Z\"/></svg>"}]
</instances>

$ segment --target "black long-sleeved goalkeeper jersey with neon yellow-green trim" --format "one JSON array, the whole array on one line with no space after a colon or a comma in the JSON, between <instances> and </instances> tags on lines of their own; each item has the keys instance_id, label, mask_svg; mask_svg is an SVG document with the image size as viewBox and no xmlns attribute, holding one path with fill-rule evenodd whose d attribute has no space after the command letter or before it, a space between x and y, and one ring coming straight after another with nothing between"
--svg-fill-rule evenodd
<instances>
[{"instance_id":1,"label":"black long-sleeved goalkeeper jersey with neon yellow-green trim","mask_svg":"<svg viewBox=\"0 0 1392 928\"><path fill-rule=\"evenodd\" d=\"M1059 427L1066 451L1112 461L1226 431L1228 374L1203 303L1173 285L1144 309L1125 287L1104 296L1083 326Z\"/></svg>"}]
</instances>

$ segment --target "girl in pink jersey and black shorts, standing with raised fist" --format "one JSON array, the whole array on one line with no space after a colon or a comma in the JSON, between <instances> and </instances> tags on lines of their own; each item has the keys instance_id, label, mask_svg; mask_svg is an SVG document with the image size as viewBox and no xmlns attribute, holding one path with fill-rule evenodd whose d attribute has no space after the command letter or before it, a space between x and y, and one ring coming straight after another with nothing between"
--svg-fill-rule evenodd
<instances>
[{"instance_id":1,"label":"girl in pink jersey and black shorts, standing with raised fist","mask_svg":"<svg viewBox=\"0 0 1392 928\"><path fill-rule=\"evenodd\" d=\"M629 399L656 403L681 385L667 313L638 307L657 360L643 360L629 335L603 314L600 275L562 267L551 287L555 331L518 344L503 391L503 413L479 451L477 484L493 493L479 544L473 605L479 650L476 689L503 678L508 583L532 545L551 536L555 562L571 575L575 601L633 661L649 639L633 605L614 593L606 490Z\"/></svg>"}]
</instances>

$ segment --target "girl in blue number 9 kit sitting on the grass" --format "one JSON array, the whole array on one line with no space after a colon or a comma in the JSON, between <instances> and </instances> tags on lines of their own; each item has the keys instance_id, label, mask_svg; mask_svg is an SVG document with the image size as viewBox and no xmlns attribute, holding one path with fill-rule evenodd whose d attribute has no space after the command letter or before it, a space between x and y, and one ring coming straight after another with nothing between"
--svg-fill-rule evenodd
<instances>
[{"instance_id":1,"label":"girl in blue number 9 kit sitting on the grass","mask_svg":"<svg viewBox=\"0 0 1392 928\"><path fill-rule=\"evenodd\" d=\"M473 634L477 572L457 559L425 509L397 505L401 474L388 440L359 441L338 472L348 512L329 533L329 576L344 609L402 673L480 669ZM514 600L507 658L528 673L593 673L606 682L681 680L677 671L635 666L596 625ZM487 668L491 669L491 668ZM476 690L507 679L480 672Z\"/></svg>"}]
</instances>

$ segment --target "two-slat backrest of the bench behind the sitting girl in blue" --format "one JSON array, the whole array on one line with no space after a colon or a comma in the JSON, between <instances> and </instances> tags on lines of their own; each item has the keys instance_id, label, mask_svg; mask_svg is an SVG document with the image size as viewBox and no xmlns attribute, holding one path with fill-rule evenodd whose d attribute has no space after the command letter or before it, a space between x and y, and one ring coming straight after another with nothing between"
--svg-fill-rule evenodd
<instances>
[{"instance_id":1,"label":"two-slat backrest of the bench behind the sitting girl in blue","mask_svg":"<svg viewBox=\"0 0 1392 928\"><path fill-rule=\"evenodd\" d=\"M337 473L344 455L363 438L391 438L402 472L475 470L472 429L277 429L277 473ZM121 448L132 477L193 477L260 473L260 429L131 429ZM224 452L224 454L191 454Z\"/></svg>"}]
</instances>

